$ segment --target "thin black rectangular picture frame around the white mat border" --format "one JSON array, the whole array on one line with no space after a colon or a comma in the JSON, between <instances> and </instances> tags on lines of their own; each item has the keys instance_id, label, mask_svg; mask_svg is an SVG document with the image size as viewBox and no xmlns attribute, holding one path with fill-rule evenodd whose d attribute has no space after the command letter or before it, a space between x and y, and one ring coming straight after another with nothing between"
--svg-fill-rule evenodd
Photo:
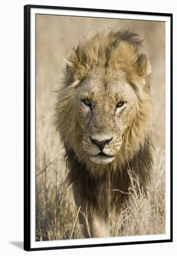
<instances>
[{"instance_id":1,"label":"thin black rectangular picture frame around the white mat border","mask_svg":"<svg viewBox=\"0 0 177 256\"><path fill-rule=\"evenodd\" d=\"M123 242L123 243L102 243L102 244L85 244L85 245L69 245L69 246L56 246L56 247L40 247L31 248L30 245L30 11L32 8L42 9L59 9L59 10L73 10L73 11L88 11L99 13L127 13L127 14L143 14L143 15L157 15L170 17L170 239L167 240L153 240L153 241L138 241L138 242ZM24 6L24 249L26 251L33 250L49 250L49 249L69 249L69 248L88 248L97 246L115 246L115 245L128 245L128 244L145 244L145 243L166 243L173 241L173 197L172 197L172 65L173 65L173 14L171 13L150 13L150 12L134 12L122 10L106 10L106 9L92 9L92 8L75 8L75 7L58 7L58 6L38 6L26 5Z\"/></svg>"}]
</instances>

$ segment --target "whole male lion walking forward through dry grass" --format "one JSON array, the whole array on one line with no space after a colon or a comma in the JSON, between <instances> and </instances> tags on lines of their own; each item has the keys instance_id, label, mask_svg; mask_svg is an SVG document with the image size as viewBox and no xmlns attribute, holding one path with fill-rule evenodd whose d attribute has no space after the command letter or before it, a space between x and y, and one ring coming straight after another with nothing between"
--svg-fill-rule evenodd
<instances>
[{"instance_id":1,"label":"whole male lion walking forward through dry grass","mask_svg":"<svg viewBox=\"0 0 177 256\"><path fill-rule=\"evenodd\" d=\"M128 196L129 170L144 191L151 179L151 67L141 43L128 29L99 33L66 62L55 117L84 237L110 236L108 214Z\"/></svg>"}]
</instances>

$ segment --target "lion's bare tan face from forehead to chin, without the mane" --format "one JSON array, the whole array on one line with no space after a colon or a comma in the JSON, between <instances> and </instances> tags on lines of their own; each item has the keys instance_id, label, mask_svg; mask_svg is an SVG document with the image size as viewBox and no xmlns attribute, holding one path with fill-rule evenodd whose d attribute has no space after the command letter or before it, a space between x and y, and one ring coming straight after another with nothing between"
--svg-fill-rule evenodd
<instances>
[{"instance_id":1,"label":"lion's bare tan face from forehead to chin, without the mane","mask_svg":"<svg viewBox=\"0 0 177 256\"><path fill-rule=\"evenodd\" d=\"M75 104L83 131L82 147L92 162L107 164L118 155L134 119L137 97L123 71L93 70L76 90ZM82 87L82 90L80 90Z\"/></svg>"}]
</instances>

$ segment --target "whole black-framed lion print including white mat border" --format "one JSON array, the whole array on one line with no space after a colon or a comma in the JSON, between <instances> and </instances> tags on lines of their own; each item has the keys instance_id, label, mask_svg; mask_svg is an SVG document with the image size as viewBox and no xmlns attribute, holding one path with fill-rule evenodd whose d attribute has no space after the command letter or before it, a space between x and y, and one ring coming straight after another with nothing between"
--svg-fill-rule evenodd
<instances>
[{"instance_id":1,"label":"whole black-framed lion print including white mat border","mask_svg":"<svg viewBox=\"0 0 177 256\"><path fill-rule=\"evenodd\" d=\"M24 249L172 242L172 14L24 7Z\"/></svg>"}]
</instances>

